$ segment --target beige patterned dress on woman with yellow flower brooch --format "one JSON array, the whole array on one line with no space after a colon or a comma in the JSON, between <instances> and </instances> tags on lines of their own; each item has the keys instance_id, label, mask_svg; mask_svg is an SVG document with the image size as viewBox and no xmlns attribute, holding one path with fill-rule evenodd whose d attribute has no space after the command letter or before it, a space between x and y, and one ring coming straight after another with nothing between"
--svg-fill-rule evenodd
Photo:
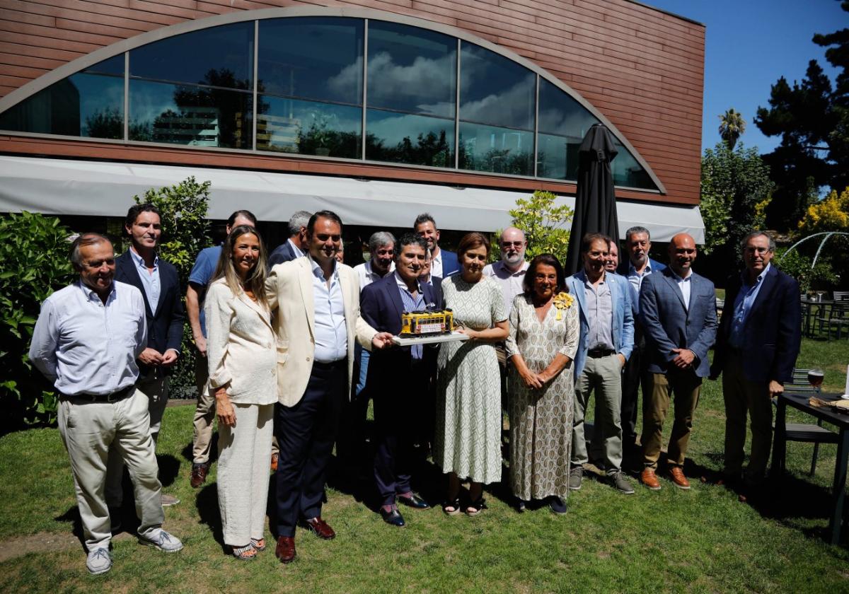
<instances>
[{"instance_id":1,"label":"beige patterned dress on woman with yellow flower brooch","mask_svg":"<svg viewBox=\"0 0 849 594\"><path fill-rule=\"evenodd\" d=\"M577 302L560 311L552 305L543 322L525 294L513 301L507 356L520 354L532 372L540 373L558 353L575 358L579 322ZM511 364L510 487L525 501L569 493L574 378L572 361L543 389L528 388Z\"/></svg>"}]
</instances>

